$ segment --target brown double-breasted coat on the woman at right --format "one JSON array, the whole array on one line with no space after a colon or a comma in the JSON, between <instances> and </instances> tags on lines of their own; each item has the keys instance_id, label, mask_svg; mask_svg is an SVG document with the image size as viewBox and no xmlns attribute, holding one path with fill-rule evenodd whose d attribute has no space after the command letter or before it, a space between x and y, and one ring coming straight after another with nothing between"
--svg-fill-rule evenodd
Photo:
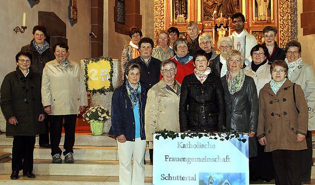
<instances>
[{"instance_id":1,"label":"brown double-breasted coat on the woman at right","mask_svg":"<svg viewBox=\"0 0 315 185\"><path fill-rule=\"evenodd\" d=\"M308 106L301 86L295 84L293 99L293 83L286 79L283 86L275 94L270 83L259 92L259 117L257 138L266 136L265 152L282 150L307 149L305 140L297 143L297 133L306 135L308 127Z\"/></svg>"}]
</instances>

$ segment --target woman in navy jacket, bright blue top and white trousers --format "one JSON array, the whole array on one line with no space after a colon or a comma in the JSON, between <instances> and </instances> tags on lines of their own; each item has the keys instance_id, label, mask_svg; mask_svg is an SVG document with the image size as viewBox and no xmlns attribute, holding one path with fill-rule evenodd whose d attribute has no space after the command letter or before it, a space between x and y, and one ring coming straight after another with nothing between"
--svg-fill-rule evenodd
<instances>
[{"instance_id":1,"label":"woman in navy jacket, bright blue top and white trousers","mask_svg":"<svg viewBox=\"0 0 315 185\"><path fill-rule=\"evenodd\" d=\"M144 153L147 145L144 110L147 87L140 85L140 74L140 65L130 63L125 71L126 82L115 90L112 97L110 134L117 137L120 185L144 185Z\"/></svg>"}]
</instances>

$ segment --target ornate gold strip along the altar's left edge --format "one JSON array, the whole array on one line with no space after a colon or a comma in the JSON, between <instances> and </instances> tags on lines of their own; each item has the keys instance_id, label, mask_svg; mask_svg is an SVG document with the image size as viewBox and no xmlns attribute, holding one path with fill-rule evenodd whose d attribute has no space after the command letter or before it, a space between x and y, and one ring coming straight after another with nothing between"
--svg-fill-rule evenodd
<instances>
[{"instance_id":1,"label":"ornate gold strip along the altar's left edge","mask_svg":"<svg viewBox=\"0 0 315 185\"><path fill-rule=\"evenodd\" d=\"M164 0L154 0L154 40L159 30L164 30Z\"/></svg>"}]
</instances>

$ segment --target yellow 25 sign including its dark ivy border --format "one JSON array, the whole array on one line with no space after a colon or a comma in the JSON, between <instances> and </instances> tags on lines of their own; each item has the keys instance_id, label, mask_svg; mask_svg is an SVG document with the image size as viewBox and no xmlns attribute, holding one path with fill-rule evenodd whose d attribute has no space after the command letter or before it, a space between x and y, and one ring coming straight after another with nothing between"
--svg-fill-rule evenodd
<instances>
[{"instance_id":1,"label":"yellow 25 sign including its dark ivy border","mask_svg":"<svg viewBox=\"0 0 315 185\"><path fill-rule=\"evenodd\" d=\"M85 59L85 85L87 92L105 94L114 92L112 83L112 58L98 57Z\"/></svg>"}]
</instances>

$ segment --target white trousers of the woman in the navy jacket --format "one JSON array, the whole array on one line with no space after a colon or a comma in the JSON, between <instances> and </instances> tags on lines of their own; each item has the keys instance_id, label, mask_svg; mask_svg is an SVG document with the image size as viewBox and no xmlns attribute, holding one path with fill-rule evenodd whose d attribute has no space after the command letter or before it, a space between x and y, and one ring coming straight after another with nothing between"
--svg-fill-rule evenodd
<instances>
[{"instance_id":1,"label":"white trousers of the woman in the navy jacket","mask_svg":"<svg viewBox=\"0 0 315 185\"><path fill-rule=\"evenodd\" d=\"M134 142L118 142L119 185L144 185L144 154L147 142L136 138ZM131 158L133 168L131 174Z\"/></svg>"}]
</instances>

